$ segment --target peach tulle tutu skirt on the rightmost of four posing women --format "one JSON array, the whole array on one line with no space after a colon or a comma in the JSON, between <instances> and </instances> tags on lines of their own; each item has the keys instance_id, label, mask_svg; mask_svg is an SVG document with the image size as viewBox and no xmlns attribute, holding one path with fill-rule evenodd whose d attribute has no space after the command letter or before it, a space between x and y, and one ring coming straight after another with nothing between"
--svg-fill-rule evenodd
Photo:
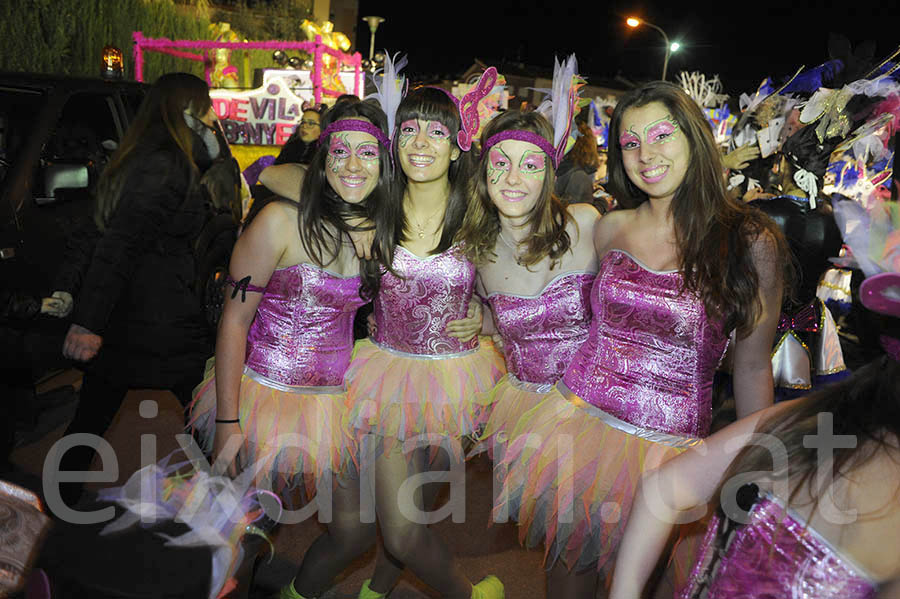
<instances>
[{"instance_id":1,"label":"peach tulle tutu skirt on the rightmost of four posing women","mask_svg":"<svg viewBox=\"0 0 900 599\"><path fill-rule=\"evenodd\" d=\"M604 572L614 563L642 474L699 443L631 425L561 384L508 437L495 447L502 487L494 521L517 520L525 546L543 543L548 568L562 560L569 570L596 565Z\"/></svg>"}]
</instances>

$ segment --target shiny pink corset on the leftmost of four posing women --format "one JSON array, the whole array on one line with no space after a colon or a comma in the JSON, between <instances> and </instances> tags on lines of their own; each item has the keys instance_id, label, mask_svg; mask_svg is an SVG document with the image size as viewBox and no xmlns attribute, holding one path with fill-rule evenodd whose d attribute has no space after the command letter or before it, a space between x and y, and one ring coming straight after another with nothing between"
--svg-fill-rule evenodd
<instances>
[{"instance_id":1,"label":"shiny pink corset on the leftmost of four posing women","mask_svg":"<svg viewBox=\"0 0 900 599\"><path fill-rule=\"evenodd\" d=\"M273 272L247 335L246 365L283 385L343 385L353 315L364 303L359 284L359 275L311 264Z\"/></svg>"}]
</instances>

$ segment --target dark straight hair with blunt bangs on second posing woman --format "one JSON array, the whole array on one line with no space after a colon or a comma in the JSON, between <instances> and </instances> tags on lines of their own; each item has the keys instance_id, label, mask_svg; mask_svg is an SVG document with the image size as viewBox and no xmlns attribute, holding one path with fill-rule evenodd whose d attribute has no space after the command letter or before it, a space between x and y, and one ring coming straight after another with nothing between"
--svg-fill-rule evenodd
<instances>
[{"instance_id":1,"label":"dark straight hair with blunt bangs on second posing woman","mask_svg":"<svg viewBox=\"0 0 900 599\"><path fill-rule=\"evenodd\" d=\"M456 146L456 134L461 127L459 109L453 100L443 91L432 87L420 87L409 92L400 106L397 108L397 127L409 119L421 119L423 121L439 121L450 130L450 143ZM394 139L397 132L394 131ZM403 196L406 193L406 175L400 166L400 155L397 144L394 144L394 164L396 177L394 190L391 193L391 202L394 204L392 211L397 215L394 243L399 245L406 241L405 233L409 231L409 221L403 211ZM471 152L460 152L459 158L450 163L450 171L447 173L450 179L450 197L447 200L447 209L444 211L443 229L441 239L432 254L440 254L449 248L454 241L456 232L462 225L466 214L466 187L468 178L472 172L470 157Z\"/></svg>"}]
</instances>

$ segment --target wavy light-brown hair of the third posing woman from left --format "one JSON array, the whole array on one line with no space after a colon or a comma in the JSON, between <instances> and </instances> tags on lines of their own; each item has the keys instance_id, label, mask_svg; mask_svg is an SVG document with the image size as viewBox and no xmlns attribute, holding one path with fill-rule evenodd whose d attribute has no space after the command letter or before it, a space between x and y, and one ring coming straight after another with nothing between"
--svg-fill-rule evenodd
<instances>
[{"instance_id":1,"label":"wavy light-brown hair of the third posing woman from left","mask_svg":"<svg viewBox=\"0 0 900 599\"><path fill-rule=\"evenodd\" d=\"M553 133L546 118L537 112L512 110L487 124L481 133L482 147L491 136L508 130L530 131L553 145ZM488 155L485 153L476 167L476 176L473 177L472 191L469 194L469 207L457 234L457 239L465 242L466 254L474 264L484 264L496 256L494 246L500 234L500 216L487 191L488 162ZM547 164L551 164L549 156ZM553 193L555 184L556 172L548 168L541 195L527 220L531 234L528 237L528 249L522 256L522 263L526 266L536 264L544 256L550 256L552 268L571 245L566 232L568 214Z\"/></svg>"}]
</instances>

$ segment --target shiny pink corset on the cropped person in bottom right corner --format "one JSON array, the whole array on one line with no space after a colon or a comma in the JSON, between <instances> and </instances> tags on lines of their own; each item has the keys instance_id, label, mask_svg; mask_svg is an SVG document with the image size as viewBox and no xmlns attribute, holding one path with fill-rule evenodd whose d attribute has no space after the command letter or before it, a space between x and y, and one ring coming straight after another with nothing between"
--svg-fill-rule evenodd
<instances>
[{"instance_id":1,"label":"shiny pink corset on the cropped person in bottom right corner","mask_svg":"<svg viewBox=\"0 0 900 599\"><path fill-rule=\"evenodd\" d=\"M777 500L760 498L709 583L708 599L863 599L877 587Z\"/></svg>"}]
</instances>

